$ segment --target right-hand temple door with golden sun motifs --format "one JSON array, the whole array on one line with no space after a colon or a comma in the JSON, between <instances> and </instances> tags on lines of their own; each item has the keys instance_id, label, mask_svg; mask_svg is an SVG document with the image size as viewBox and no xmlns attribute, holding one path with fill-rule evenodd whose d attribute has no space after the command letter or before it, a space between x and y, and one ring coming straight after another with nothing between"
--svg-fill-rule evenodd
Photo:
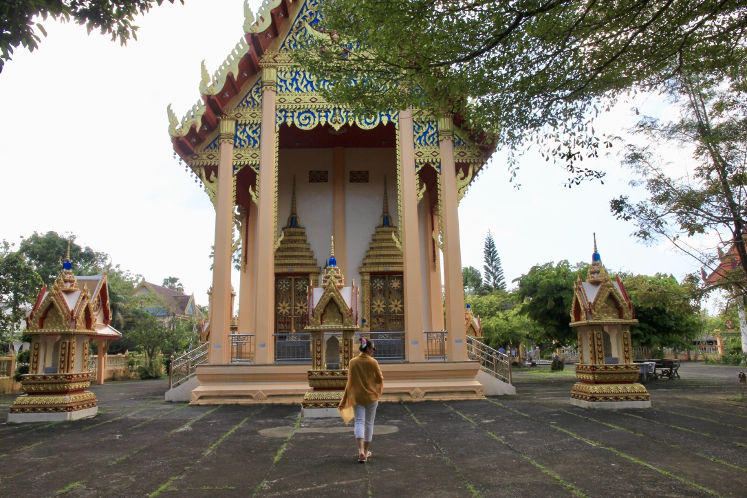
<instances>
[{"instance_id":1,"label":"right-hand temple door with golden sun motifs","mask_svg":"<svg viewBox=\"0 0 747 498\"><path fill-rule=\"evenodd\" d=\"M403 275L371 275L371 332L405 329Z\"/></svg>"}]
</instances>

